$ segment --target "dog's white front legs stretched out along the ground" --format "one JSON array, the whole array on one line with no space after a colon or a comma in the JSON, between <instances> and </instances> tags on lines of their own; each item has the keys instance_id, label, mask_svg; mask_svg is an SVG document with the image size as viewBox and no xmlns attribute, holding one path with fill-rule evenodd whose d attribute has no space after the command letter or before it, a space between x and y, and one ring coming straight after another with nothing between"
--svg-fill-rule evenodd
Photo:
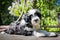
<instances>
[{"instance_id":1,"label":"dog's white front legs stretched out along the ground","mask_svg":"<svg viewBox=\"0 0 60 40\"><path fill-rule=\"evenodd\" d=\"M36 37L57 37L58 35L54 32L47 32L45 30L34 31L33 35Z\"/></svg>"}]
</instances>

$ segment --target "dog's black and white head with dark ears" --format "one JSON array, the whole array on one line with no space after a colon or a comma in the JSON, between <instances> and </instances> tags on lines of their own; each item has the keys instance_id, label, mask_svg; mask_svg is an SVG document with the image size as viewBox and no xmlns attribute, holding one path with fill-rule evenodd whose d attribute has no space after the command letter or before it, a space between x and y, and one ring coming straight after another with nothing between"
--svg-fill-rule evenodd
<instances>
[{"instance_id":1,"label":"dog's black and white head with dark ears","mask_svg":"<svg viewBox=\"0 0 60 40\"><path fill-rule=\"evenodd\" d=\"M27 12L24 19L27 23L32 24L32 26L37 26L40 24L41 13L37 9L31 9Z\"/></svg>"}]
</instances>

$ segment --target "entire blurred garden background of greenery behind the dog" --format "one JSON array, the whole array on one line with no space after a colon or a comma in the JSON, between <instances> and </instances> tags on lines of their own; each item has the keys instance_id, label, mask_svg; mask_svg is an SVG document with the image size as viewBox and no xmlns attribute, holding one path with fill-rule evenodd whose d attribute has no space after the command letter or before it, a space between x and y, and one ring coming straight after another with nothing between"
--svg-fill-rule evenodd
<instances>
[{"instance_id":1,"label":"entire blurred garden background of greenery behind the dog","mask_svg":"<svg viewBox=\"0 0 60 40\"><path fill-rule=\"evenodd\" d=\"M0 0L0 26L9 25L32 8L42 14L41 29L60 32L60 0Z\"/></svg>"}]
</instances>

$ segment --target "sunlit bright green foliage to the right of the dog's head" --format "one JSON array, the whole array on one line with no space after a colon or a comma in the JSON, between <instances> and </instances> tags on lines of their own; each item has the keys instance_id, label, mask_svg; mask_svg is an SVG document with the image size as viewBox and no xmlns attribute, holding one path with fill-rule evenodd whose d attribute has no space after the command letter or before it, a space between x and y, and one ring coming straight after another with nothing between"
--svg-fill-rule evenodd
<instances>
[{"instance_id":1,"label":"sunlit bright green foliage to the right of the dog's head","mask_svg":"<svg viewBox=\"0 0 60 40\"><path fill-rule=\"evenodd\" d=\"M40 10L42 14L41 26L44 28L57 26L56 0L35 0L34 7ZM35 5L36 4L36 5ZM45 27L46 26L46 27Z\"/></svg>"}]
</instances>

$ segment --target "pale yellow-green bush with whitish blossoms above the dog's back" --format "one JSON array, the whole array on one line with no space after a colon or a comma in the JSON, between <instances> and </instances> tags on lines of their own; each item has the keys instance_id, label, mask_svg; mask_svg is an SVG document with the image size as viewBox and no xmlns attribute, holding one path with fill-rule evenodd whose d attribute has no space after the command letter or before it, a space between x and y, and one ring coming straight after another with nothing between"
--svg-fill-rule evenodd
<instances>
[{"instance_id":1,"label":"pale yellow-green bush with whitish blossoms above the dog's back","mask_svg":"<svg viewBox=\"0 0 60 40\"><path fill-rule=\"evenodd\" d=\"M14 1L8 10L11 15L19 16L21 13L26 13L28 9L31 9L31 6L32 3L29 0L21 0L21 2Z\"/></svg>"}]
</instances>

